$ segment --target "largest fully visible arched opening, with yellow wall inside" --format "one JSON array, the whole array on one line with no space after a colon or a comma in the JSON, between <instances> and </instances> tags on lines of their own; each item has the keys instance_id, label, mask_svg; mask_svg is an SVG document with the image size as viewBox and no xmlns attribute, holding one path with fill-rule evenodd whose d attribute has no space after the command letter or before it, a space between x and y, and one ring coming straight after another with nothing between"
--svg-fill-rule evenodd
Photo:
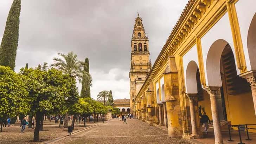
<instances>
[{"instance_id":1,"label":"largest fully visible arched opening, with yellow wall inside","mask_svg":"<svg viewBox=\"0 0 256 144\"><path fill-rule=\"evenodd\" d=\"M221 86L216 93L221 123L254 123L255 113L250 86L237 75L235 56L225 40L215 41L207 54L206 73L209 86Z\"/></svg>"}]
</instances>

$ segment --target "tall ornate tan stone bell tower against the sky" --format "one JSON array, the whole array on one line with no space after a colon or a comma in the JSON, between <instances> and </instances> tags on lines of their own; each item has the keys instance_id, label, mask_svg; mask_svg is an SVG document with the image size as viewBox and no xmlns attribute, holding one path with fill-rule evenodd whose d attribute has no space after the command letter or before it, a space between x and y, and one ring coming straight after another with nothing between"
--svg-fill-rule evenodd
<instances>
[{"instance_id":1,"label":"tall ornate tan stone bell tower against the sky","mask_svg":"<svg viewBox=\"0 0 256 144\"><path fill-rule=\"evenodd\" d=\"M141 86L145 82L151 70L151 60L149 60L148 36L145 33L142 19L135 19L132 41L131 41L131 62L130 62L130 107L133 113L134 100ZM134 113L133 113L134 114Z\"/></svg>"}]
</instances>

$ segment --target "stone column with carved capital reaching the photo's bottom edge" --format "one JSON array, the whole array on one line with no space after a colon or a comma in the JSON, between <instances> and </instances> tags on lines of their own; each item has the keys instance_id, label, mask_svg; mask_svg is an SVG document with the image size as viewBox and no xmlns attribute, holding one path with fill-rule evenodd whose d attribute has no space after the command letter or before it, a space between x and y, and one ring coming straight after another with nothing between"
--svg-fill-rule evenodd
<instances>
[{"instance_id":1,"label":"stone column with carved capital reaching the photo's bottom edge","mask_svg":"<svg viewBox=\"0 0 256 144\"><path fill-rule=\"evenodd\" d=\"M223 144L216 96L220 87L221 86L207 86L203 88L203 90L207 91L210 95L215 144Z\"/></svg>"}]
</instances>

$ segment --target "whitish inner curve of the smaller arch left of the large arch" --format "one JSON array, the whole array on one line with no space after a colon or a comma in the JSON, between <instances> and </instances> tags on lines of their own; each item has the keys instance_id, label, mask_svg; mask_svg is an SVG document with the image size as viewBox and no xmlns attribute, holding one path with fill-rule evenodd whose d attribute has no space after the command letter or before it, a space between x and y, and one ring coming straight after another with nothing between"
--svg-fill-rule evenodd
<instances>
[{"instance_id":1,"label":"whitish inner curve of the smaller arch left of the large arch","mask_svg":"<svg viewBox=\"0 0 256 144\"><path fill-rule=\"evenodd\" d=\"M197 63L195 61L190 61L186 69L186 92L187 93L197 93Z\"/></svg>"}]
</instances>

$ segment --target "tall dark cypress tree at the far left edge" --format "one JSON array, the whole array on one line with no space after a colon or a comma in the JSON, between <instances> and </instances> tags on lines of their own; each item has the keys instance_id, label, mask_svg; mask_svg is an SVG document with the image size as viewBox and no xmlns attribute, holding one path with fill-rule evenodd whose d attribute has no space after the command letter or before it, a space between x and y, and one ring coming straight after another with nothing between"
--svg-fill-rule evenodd
<instances>
[{"instance_id":1,"label":"tall dark cypress tree at the far left edge","mask_svg":"<svg viewBox=\"0 0 256 144\"><path fill-rule=\"evenodd\" d=\"M0 65L9 66L12 70L15 67L19 40L20 9L21 0L13 0L0 46Z\"/></svg>"}]
</instances>

